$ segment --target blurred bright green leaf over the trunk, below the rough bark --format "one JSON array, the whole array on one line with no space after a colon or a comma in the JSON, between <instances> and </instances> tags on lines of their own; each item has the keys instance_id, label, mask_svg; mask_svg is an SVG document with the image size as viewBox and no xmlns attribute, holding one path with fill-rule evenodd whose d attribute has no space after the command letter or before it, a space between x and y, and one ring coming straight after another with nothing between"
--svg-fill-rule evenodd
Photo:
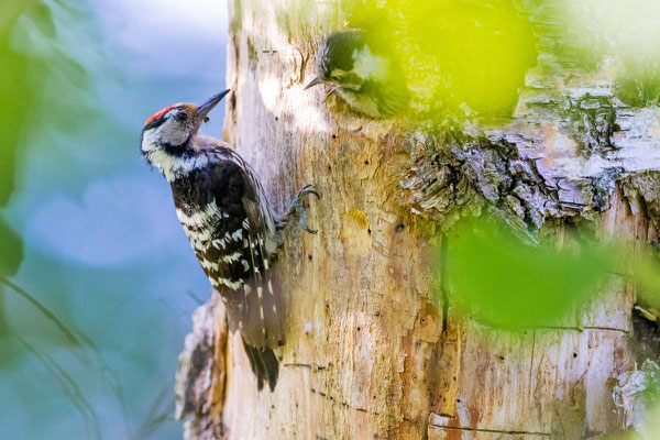
<instances>
[{"instance_id":1,"label":"blurred bright green leaf over the trunk, below the rough bark","mask_svg":"<svg viewBox=\"0 0 660 440\"><path fill-rule=\"evenodd\" d=\"M635 285L645 307L660 310L659 255L641 243L604 242L593 231L568 226L559 235L530 243L501 220L480 217L461 220L442 246L437 253L442 267L438 298L450 302L444 307L451 305L460 315L499 329L579 326L581 308L603 293L608 278L622 273L628 274L625 279ZM651 331L658 331L657 324ZM660 353L653 356L651 361L658 362ZM625 432L603 438L659 438L654 433L660 435L656 419L660 377L652 376L632 392L628 399L650 408L648 429L642 437Z\"/></svg>"}]
</instances>

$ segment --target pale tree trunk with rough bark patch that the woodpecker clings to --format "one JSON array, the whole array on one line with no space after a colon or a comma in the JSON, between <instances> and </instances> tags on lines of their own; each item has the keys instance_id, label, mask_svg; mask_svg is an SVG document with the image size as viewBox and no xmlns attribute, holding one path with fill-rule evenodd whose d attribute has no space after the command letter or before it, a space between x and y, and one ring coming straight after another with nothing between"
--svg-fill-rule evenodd
<instances>
[{"instance_id":1,"label":"pale tree trunk with rough bark patch that the woodpecker clings to","mask_svg":"<svg viewBox=\"0 0 660 440\"><path fill-rule=\"evenodd\" d=\"M537 68L504 124L451 139L404 132L302 91L315 48L341 28L337 3L233 0L230 20L226 139L277 207L317 186L308 220L319 233L292 230L283 252L287 342L275 393L257 393L221 305L196 315L178 376L186 438L582 439L617 429L610 380L635 361L627 267L571 318L510 333L458 318L449 301L460 293L439 294L429 253L461 215L484 211L531 241L590 221L604 237L657 242L658 108L618 100L610 68L552 82Z\"/></svg>"}]
</instances>

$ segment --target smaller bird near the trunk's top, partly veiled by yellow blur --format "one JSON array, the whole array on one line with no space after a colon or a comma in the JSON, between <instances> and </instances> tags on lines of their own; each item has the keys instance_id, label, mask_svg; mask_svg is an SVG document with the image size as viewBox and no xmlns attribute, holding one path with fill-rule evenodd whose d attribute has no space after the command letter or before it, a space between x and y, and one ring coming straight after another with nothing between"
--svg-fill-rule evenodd
<instances>
[{"instance_id":1,"label":"smaller bird near the trunk's top, partly veiled by yellow blur","mask_svg":"<svg viewBox=\"0 0 660 440\"><path fill-rule=\"evenodd\" d=\"M403 113L410 94L394 55L382 46L362 30L334 32L321 43L319 76L305 89L328 85L323 101L337 92L353 111L374 119Z\"/></svg>"}]
</instances>

